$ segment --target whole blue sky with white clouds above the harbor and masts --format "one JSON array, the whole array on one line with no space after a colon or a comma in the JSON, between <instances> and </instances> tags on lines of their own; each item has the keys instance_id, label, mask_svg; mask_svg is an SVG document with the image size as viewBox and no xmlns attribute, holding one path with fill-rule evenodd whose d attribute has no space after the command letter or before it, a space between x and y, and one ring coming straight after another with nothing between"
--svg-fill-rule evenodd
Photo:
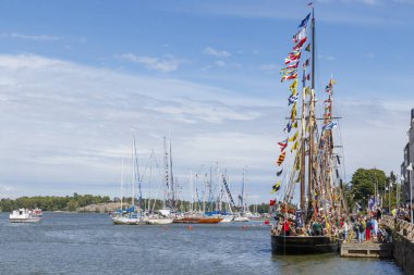
<instances>
[{"instance_id":1,"label":"whole blue sky with white clouds above the harbor and masts","mask_svg":"<svg viewBox=\"0 0 414 275\"><path fill-rule=\"evenodd\" d=\"M2 1L0 197L118 195L131 127L141 163L171 133L175 175L218 162L267 201L307 1ZM332 74L348 179L399 173L414 108L412 0L319 0L317 88ZM202 168L203 167L203 168ZM125 176L125 182L130 180Z\"/></svg>"}]
</instances>

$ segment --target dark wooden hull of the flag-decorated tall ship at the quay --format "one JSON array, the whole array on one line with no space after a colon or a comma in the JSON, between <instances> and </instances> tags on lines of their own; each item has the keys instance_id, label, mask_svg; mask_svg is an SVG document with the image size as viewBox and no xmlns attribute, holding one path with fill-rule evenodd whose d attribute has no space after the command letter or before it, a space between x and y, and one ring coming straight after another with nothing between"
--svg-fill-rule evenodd
<instances>
[{"instance_id":1,"label":"dark wooden hull of the flag-decorated tall ship at the quay","mask_svg":"<svg viewBox=\"0 0 414 275\"><path fill-rule=\"evenodd\" d=\"M271 235L271 251L285 254L314 254L338 252L338 237L327 236L275 236Z\"/></svg>"}]
</instances>

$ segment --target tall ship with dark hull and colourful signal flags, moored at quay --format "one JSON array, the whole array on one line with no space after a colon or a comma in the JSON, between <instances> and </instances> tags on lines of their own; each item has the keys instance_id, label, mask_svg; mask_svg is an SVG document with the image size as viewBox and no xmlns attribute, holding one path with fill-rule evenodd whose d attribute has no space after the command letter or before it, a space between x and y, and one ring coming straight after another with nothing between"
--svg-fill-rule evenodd
<instances>
[{"instance_id":1,"label":"tall ship with dark hull and colourful signal flags, moored at quay","mask_svg":"<svg viewBox=\"0 0 414 275\"><path fill-rule=\"evenodd\" d=\"M278 142L277 180L270 191L275 195L270 200L276 220L271 229L273 253L336 252L340 225L346 218L340 172L342 147L336 134L340 133L339 117L332 115L336 82L330 78L325 91L315 87L316 26L310 8L281 70L281 82L290 84L290 95L285 139Z\"/></svg>"}]
</instances>

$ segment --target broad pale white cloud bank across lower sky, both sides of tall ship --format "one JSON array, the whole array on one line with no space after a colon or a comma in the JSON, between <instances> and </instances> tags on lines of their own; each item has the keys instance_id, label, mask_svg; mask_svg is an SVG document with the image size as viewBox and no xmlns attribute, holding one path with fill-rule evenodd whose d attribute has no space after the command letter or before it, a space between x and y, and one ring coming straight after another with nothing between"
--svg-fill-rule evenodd
<instances>
[{"instance_id":1,"label":"broad pale white cloud bank across lower sky, both sides of tall ship","mask_svg":"<svg viewBox=\"0 0 414 275\"><path fill-rule=\"evenodd\" d=\"M190 170L203 164L208 170L218 161L235 187L248 165L249 195L266 201L276 142L284 138L287 108L279 104L284 105L285 93L276 96L248 97L33 54L0 55L0 183L14 188L10 196L115 196L133 126L143 170L153 149L162 165L162 136L171 132L180 183L186 183ZM413 101L337 102L349 175L369 165L397 172Z\"/></svg>"}]
</instances>

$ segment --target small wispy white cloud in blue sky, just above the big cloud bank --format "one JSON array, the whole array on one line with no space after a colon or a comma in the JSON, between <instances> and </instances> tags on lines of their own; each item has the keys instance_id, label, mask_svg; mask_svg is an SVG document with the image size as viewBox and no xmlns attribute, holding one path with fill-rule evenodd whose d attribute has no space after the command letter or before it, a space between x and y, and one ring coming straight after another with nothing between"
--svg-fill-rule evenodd
<instances>
[{"instance_id":1,"label":"small wispy white cloud in blue sky, just above the big cloud bank","mask_svg":"<svg viewBox=\"0 0 414 275\"><path fill-rule=\"evenodd\" d=\"M179 68L182 61L169 57L166 60L160 60L159 58L151 57L139 57L132 53L124 53L120 55L121 59L144 64L147 68L157 70L160 72L172 72Z\"/></svg>"}]
</instances>

